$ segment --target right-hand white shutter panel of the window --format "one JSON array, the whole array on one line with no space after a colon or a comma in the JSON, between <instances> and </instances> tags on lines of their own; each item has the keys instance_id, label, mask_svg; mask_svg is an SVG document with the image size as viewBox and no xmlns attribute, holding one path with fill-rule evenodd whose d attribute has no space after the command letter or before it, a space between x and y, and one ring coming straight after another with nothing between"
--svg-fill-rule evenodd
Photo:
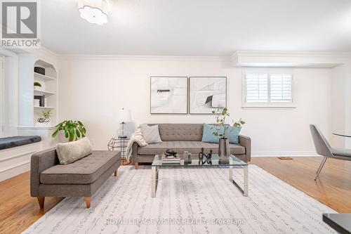
<instances>
[{"instance_id":1,"label":"right-hand white shutter panel of the window","mask_svg":"<svg viewBox=\"0 0 351 234\"><path fill-rule=\"evenodd\" d=\"M291 102L291 74L270 74L270 101Z\"/></svg>"}]
</instances>

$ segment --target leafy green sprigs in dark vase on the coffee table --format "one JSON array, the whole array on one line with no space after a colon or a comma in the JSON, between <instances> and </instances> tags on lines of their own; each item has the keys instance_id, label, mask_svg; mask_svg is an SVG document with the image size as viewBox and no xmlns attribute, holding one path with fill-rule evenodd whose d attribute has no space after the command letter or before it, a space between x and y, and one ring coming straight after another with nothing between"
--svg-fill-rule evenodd
<instances>
[{"instance_id":1,"label":"leafy green sprigs in dark vase on the coffee table","mask_svg":"<svg viewBox=\"0 0 351 234\"><path fill-rule=\"evenodd\" d=\"M223 110L213 110L212 113L213 115L216 115L215 123L213 124L213 127L211 127L211 129L214 129L212 134L218 138L227 139L230 134L230 131L228 132L230 126L242 126L245 124L244 120L241 118L237 122L234 122L234 119L232 119L232 125L227 124L226 118L230 117L227 108L223 108Z\"/></svg>"}]
</instances>

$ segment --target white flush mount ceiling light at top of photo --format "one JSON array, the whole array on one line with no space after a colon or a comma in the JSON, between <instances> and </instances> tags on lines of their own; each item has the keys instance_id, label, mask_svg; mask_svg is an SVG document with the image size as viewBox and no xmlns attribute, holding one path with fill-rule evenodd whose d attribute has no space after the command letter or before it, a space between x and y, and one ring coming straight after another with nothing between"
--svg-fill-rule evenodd
<instances>
[{"instance_id":1,"label":"white flush mount ceiling light at top of photo","mask_svg":"<svg viewBox=\"0 0 351 234\"><path fill-rule=\"evenodd\" d=\"M79 0L78 11L81 18L93 24L103 25L109 19L107 0Z\"/></svg>"}]
</instances>

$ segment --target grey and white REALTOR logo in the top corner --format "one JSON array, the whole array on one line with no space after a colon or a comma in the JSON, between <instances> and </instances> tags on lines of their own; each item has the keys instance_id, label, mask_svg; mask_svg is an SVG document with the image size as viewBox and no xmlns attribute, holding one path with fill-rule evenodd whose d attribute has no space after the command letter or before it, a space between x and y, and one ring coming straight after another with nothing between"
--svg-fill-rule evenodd
<instances>
[{"instance_id":1,"label":"grey and white REALTOR logo in the top corner","mask_svg":"<svg viewBox=\"0 0 351 234\"><path fill-rule=\"evenodd\" d=\"M1 46L38 48L39 3L1 1Z\"/></svg>"}]
</instances>

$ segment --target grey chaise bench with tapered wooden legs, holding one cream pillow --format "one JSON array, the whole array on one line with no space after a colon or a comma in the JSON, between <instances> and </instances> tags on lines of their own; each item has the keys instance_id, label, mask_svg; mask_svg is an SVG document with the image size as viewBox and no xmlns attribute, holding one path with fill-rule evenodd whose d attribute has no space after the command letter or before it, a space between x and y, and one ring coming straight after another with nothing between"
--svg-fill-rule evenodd
<instances>
[{"instance_id":1,"label":"grey chaise bench with tapered wooden legs, holding one cream pillow","mask_svg":"<svg viewBox=\"0 0 351 234\"><path fill-rule=\"evenodd\" d=\"M37 197L44 209L45 197L86 197L86 207L91 196L121 164L121 152L93 150L93 152L67 165L58 161L56 149L36 152L31 158L30 194Z\"/></svg>"}]
</instances>

